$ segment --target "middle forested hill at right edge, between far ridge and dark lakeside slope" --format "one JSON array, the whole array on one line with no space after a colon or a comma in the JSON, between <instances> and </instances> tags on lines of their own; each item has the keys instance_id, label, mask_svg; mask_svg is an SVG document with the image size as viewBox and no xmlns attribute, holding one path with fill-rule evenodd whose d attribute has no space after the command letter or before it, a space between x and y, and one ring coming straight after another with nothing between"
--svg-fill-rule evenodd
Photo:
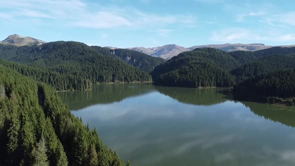
<instances>
[{"instance_id":1,"label":"middle forested hill at right edge, between far ridge and dark lakeside slope","mask_svg":"<svg viewBox=\"0 0 295 166\"><path fill-rule=\"evenodd\" d=\"M265 56L235 68L230 73L236 76L237 82L241 82L262 73L287 68L295 68L295 54Z\"/></svg>"}]
</instances>

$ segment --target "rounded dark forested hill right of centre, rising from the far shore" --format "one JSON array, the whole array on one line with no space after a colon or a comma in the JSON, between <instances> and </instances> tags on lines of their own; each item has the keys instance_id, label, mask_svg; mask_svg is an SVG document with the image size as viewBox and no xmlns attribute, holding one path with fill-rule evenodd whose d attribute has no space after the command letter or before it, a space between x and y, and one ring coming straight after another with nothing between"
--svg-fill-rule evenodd
<instances>
[{"instance_id":1,"label":"rounded dark forested hill right of centre, rising from the far shore","mask_svg":"<svg viewBox=\"0 0 295 166\"><path fill-rule=\"evenodd\" d=\"M229 87L233 85L234 77L226 69L238 65L239 62L225 52L200 48L180 53L158 65L154 68L152 77L158 85Z\"/></svg>"}]
</instances>

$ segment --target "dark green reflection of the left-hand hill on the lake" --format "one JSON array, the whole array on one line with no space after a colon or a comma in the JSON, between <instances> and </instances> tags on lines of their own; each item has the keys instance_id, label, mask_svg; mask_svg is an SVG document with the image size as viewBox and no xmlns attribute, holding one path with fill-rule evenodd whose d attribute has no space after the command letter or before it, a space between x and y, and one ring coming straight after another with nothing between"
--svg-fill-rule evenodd
<instances>
[{"instance_id":1,"label":"dark green reflection of the left-hand hill on the lake","mask_svg":"<svg viewBox=\"0 0 295 166\"><path fill-rule=\"evenodd\" d=\"M127 97L154 91L148 83L97 84L91 90L58 92L69 109L79 110L94 104L119 102Z\"/></svg>"}]
</instances>

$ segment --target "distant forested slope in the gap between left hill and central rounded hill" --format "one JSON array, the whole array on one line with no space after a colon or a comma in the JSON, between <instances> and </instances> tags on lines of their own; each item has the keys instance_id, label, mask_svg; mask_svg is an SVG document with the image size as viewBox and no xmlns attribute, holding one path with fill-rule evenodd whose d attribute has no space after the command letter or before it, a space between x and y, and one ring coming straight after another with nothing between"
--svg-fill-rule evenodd
<instances>
[{"instance_id":1,"label":"distant forested slope in the gap between left hill and central rounded hill","mask_svg":"<svg viewBox=\"0 0 295 166\"><path fill-rule=\"evenodd\" d=\"M114 49L112 52L123 61L146 72L151 72L155 66L165 61L160 57L153 57L148 54L129 49Z\"/></svg>"}]
</instances>

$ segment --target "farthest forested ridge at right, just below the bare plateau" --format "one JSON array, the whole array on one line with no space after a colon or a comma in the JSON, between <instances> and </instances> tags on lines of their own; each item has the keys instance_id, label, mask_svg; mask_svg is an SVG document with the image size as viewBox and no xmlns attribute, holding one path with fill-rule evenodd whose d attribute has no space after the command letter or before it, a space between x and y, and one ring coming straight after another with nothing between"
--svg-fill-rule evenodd
<instances>
[{"instance_id":1,"label":"farthest forested ridge at right, just below the bare plateau","mask_svg":"<svg viewBox=\"0 0 295 166\"><path fill-rule=\"evenodd\" d=\"M236 58L242 64L249 63L250 61L258 58L269 56L273 54L289 54L295 53L295 47L271 47L267 49L261 49L257 51L233 51L229 52L234 58Z\"/></svg>"}]
</instances>

